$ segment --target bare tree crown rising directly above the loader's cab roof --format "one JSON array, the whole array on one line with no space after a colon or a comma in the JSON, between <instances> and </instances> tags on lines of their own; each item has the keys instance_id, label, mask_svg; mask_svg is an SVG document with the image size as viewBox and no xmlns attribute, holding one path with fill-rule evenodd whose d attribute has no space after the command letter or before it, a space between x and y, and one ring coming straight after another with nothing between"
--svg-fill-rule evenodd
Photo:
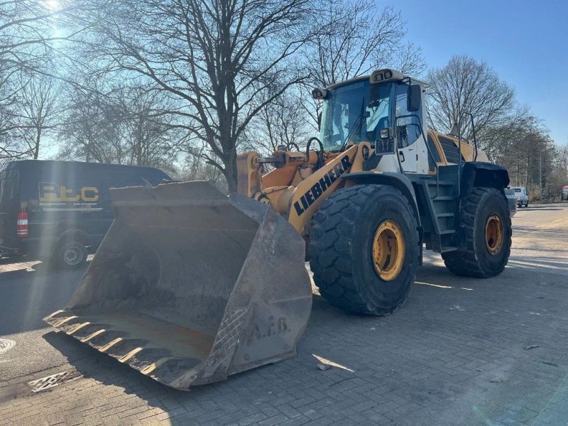
<instances>
[{"instance_id":1,"label":"bare tree crown rising directly above the loader's cab roof","mask_svg":"<svg viewBox=\"0 0 568 426\"><path fill-rule=\"evenodd\" d=\"M410 75L425 70L422 50L405 41L406 23L391 6L380 9L371 0L324 0L320 4L315 35L304 49L310 87L300 92L302 104L315 128L319 103L310 88L326 87L393 67Z\"/></svg>"}]
</instances>

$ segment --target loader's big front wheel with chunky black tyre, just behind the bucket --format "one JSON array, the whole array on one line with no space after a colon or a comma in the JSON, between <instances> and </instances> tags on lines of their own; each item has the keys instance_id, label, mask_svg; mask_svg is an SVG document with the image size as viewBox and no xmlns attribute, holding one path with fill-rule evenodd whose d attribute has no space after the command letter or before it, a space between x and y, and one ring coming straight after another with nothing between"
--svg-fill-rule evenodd
<instances>
[{"instance_id":1,"label":"loader's big front wheel with chunky black tyre, just behind the bucket","mask_svg":"<svg viewBox=\"0 0 568 426\"><path fill-rule=\"evenodd\" d=\"M315 214L310 238L310 268L329 303L364 315L389 315L403 305L420 246L402 192L387 185L337 190Z\"/></svg>"}]
</instances>

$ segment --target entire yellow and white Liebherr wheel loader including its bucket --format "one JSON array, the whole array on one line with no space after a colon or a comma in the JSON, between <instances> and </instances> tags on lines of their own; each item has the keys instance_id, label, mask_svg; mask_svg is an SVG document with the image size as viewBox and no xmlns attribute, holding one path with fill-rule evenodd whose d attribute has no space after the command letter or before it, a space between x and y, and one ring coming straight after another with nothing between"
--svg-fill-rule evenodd
<instances>
[{"instance_id":1,"label":"entire yellow and white Liebherr wheel loader including its bucket","mask_svg":"<svg viewBox=\"0 0 568 426\"><path fill-rule=\"evenodd\" d=\"M187 390L295 355L306 258L321 295L361 315L403 305L424 246L457 275L501 273L508 173L460 126L427 131L425 87L385 69L314 89L320 138L242 153L229 197L207 182L113 190L111 229L45 321Z\"/></svg>"}]
</instances>

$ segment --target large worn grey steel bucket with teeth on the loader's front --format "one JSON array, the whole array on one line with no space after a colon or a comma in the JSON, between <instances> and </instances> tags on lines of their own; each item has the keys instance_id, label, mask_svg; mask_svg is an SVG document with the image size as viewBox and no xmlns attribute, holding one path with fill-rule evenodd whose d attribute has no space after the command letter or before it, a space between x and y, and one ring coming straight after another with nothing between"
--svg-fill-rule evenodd
<instances>
[{"instance_id":1,"label":"large worn grey steel bucket with teeth on the loader's front","mask_svg":"<svg viewBox=\"0 0 568 426\"><path fill-rule=\"evenodd\" d=\"M173 388L295 356L305 243L274 209L207 182L111 190L114 222L45 322Z\"/></svg>"}]
</instances>

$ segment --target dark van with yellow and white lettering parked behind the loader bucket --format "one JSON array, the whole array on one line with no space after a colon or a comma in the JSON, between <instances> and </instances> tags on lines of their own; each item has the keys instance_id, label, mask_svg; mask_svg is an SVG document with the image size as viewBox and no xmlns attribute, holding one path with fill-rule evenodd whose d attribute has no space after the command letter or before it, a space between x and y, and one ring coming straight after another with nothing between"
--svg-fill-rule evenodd
<instances>
[{"instance_id":1,"label":"dark van with yellow and white lettering parked behind the loader bucket","mask_svg":"<svg viewBox=\"0 0 568 426\"><path fill-rule=\"evenodd\" d=\"M112 223L109 188L155 186L163 171L75 161L11 161L0 172L0 255L78 266Z\"/></svg>"}]
</instances>

